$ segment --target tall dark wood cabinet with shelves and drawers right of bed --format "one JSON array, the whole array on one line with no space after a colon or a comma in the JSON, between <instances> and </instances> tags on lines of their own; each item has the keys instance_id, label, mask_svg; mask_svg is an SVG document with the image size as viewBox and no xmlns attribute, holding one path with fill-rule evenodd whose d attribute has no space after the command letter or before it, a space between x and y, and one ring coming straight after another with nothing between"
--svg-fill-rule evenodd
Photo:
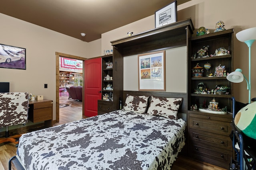
<instances>
[{"instance_id":1,"label":"tall dark wood cabinet with shelves and drawers right of bed","mask_svg":"<svg viewBox=\"0 0 256 170\"><path fill-rule=\"evenodd\" d=\"M232 141L230 123L232 122L233 85L226 76L216 76L215 68L225 66L226 74L233 71L233 29L191 37L188 42L188 133L189 153L195 159L228 168L232 157ZM214 57L198 57L198 51L208 46L208 55L215 55L216 50L224 48L229 53ZM195 55L196 54L196 55ZM211 68L206 69L205 64ZM195 76L193 68L200 66L202 76ZM209 76L212 73L213 76ZM204 92L198 92L198 86L203 84ZM224 94L214 92L217 86L226 86ZM191 109L191 106L208 107L215 99L218 107L227 107L227 114L214 114Z\"/></svg>"}]
</instances>

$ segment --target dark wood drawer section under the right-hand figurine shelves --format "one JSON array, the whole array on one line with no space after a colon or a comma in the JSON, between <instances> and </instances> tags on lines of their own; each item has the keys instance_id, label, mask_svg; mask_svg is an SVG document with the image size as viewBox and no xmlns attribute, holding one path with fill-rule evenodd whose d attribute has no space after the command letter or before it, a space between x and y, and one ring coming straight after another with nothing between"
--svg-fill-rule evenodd
<instances>
[{"instance_id":1,"label":"dark wood drawer section under the right-hand figurine shelves","mask_svg":"<svg viewBox=\"0 0 256 170\"><path fill-rule=\"evenodd\" d=\"M190 156L229 169L232 157L230 114L188 111Z\"/></svg>"}]
</instances>

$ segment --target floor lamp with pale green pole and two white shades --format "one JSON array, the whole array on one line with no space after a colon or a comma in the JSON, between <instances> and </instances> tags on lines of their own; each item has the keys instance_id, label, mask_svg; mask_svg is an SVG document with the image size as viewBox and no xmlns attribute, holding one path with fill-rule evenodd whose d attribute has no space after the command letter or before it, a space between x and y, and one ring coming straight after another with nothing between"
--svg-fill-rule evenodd
<instances>
[{"instance_id":1,"label":"floor lamp with pale green pole and two white shades","mask_svg":"<svg viewBox=\"0 0 256 170\"><path fill-rule=\"evenodd\" d=\"M242 74L242 70L238 68L234 72L231 72L230 74L228 74L227 79L230 82L234 82L234 83L240 83L244 80L244 78L246 79L247 89L249 90L249 104L250 104L251 103L251 47L252 47L252 43L256 40L256 27L245 29L243 31L236 33L236 38L239 41L246 43L246 45L249 48L249 66L248 66L249 76L247 80L247 78Z\"/></svg>"}]
</instances>

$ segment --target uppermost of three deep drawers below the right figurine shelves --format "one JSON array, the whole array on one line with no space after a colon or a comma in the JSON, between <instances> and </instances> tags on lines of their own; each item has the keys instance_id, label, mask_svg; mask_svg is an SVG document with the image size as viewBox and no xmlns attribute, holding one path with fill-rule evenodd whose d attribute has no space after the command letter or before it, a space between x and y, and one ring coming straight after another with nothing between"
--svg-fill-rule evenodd
<instances>
[{"instance_id":1,"label":"uppermost of three deep drawers below the right figurine shelves","mask_svg":"<svg viewBox=\"0 0 256 170\"><path fill-rule=\"evenodd\" d=\"M230 122L189 117L189 128L228 136L232 130Z\"/></svg>"}]
</instances>

